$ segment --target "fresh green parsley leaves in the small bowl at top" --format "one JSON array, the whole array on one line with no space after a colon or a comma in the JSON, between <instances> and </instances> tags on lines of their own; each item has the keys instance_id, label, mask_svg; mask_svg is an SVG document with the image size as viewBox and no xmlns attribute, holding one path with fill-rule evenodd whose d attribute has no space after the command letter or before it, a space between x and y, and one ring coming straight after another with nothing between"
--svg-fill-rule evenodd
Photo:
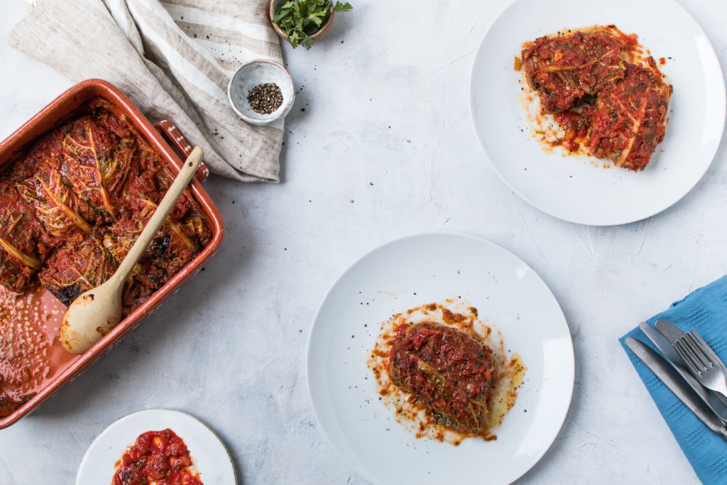
<instances>
[{"instance_id":1,"label":"fresh green parsley leaves in the small bowl at top","mask_svg":"<svg viewBox=\"0 0 727 485\"><path fill-rule=\"evenodd\" d=\"M289 0L273 15L273 23L286 35L293 49L299 45L310 49L314 43L311 36L328 22L332 12L351 9L348 1L345 4L337 1L334 5L333 0Z\"/></svg>"}]
</instances>

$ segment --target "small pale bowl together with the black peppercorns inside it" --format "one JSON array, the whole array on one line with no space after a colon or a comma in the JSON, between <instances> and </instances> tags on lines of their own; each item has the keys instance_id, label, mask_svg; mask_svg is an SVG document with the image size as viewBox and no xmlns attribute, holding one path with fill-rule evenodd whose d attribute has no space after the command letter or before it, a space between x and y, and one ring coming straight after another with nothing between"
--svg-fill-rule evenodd
<instances>
[{"instance_id":1,"label":"small pale bowl together with the black peppercorns inside it","mask_svg":"<svg viewBox=\"0 0 727 485\"><path fill-rule=\"evenodd\" d=\"M241 65L228 84L228 99L237 116L252 124L283 119L293 107L293 80L274 60L257 59Z\"/></svg>"}]
</instances>

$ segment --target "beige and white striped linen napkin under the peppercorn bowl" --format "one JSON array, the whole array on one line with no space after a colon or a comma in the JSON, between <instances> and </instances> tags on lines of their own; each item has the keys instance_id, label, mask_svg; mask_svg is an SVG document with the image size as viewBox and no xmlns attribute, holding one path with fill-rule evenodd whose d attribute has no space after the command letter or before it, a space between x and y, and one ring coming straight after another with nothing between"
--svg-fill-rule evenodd
<instances>
[{"instance_id":1,"label":"beige and white striped linen napkin under the peppercorn bowl","mask_svg":"<svg viewBox=\"0 0 727 485\"><path fill-rule=\"evenodd\" d=\"M151 121L169 119L209 169L278 182L283 121L257 127L228 104L246 60L281 62L265 0L34 0L9 44L72 81L119 87Z\"/></svg>"}]
</instances>

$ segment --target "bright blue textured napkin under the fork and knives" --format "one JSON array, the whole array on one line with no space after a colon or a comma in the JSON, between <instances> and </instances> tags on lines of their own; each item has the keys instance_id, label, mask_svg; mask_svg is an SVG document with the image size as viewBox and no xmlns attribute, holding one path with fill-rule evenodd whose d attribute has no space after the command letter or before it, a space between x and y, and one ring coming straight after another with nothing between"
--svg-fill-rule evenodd
<instances>
[{"instance_id":1,"label":"bright blue textured napkin under the fork and knives","mask_svg":"<svg viewBox=\"0 0 727 485\"><path fill-rule=\"evenodd\" d=\"M727 276L672 303L668 310L649 318L646 323L653 325L659 318L672 322L684 332L696 329L718 356L727 362ZM727 441L707 428L626 348L626 337L641 340L651 348L654 345L638 327L619 339L696 475L704 484L727 484Z\"/></svg>"}]
</instances>

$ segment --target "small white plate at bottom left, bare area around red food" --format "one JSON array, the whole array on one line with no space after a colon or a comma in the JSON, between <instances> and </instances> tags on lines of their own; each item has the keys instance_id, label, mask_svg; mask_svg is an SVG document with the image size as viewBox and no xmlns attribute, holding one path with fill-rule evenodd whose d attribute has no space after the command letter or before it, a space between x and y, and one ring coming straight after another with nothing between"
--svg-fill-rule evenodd
<instances>
[{"instance_id":1,"label":"small white plate at bottom left, bare area around red food","mask_svg":"<svg viewBox=\"0 0 727 485\"><path fill-rule=\"evenodd\" d=\"M170 428L187 445L205 484L235 485L235 467L220 438L196 417L172 409L145 409L111 423L84 454L76 485L110 484L126 448L147 431Z\"/></svg>"}]
</instances>

